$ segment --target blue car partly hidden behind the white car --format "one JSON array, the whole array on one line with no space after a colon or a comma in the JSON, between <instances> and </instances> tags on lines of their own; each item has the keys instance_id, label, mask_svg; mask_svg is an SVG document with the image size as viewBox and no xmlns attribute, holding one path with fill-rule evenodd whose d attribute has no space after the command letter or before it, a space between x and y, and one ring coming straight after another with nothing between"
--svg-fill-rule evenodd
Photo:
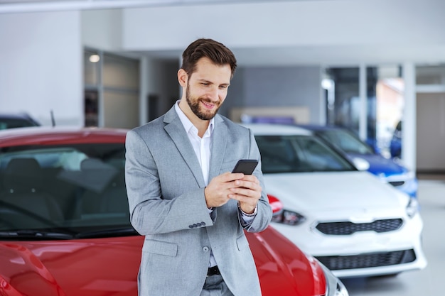
<instances>
[{"instance_id":1,"label":"blue car partly hidden behind the white car","mask_svg":"<svg viewBox=\"0 0 445 296\"><path fill-rule=\"evenodd\" d=\"M352 131L338 126L299 125L299 127L313 131L316 136L331 144L355 164L365 163L363 160L366 160L369 172L409 196L417 197L418 182L414 172L405 168L400 160L384 158L376 153Z\"/></svg>"}]
</instances>

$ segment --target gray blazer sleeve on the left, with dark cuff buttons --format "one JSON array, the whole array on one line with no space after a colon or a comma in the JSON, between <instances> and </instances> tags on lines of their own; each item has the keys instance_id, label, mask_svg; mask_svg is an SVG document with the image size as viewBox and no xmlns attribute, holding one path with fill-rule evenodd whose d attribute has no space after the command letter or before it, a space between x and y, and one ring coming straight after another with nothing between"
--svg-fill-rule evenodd
<instances>
[{"instance_id":1,"label":"gray blazer sleeve on the left, with dark cuff buttons","mask_svg":"<svg viewBox=\"0 0 445 296\"><path fill-rule=\"evenodd\" d=\"M213 225L204 188L163 199L156 162L144 139L132 130L127 133L125 145L130 221L139 234L165 234Z\"/></svg>"}]
</instances>

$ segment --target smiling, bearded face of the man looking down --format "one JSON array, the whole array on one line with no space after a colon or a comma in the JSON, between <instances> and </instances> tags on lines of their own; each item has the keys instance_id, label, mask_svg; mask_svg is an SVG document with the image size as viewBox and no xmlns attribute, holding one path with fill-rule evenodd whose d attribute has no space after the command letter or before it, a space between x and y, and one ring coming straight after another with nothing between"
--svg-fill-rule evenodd
<instances>
[{"instance_id":1,"label":"smiling, bearded face of the man looking down","mask_svg":"<svg viewBox=\"0 0 445 296\"><path fill-rule=\"evenodd\" d=\"M186 100L195 116L213 119L227 96L231 75L230 65L215 65L206 57L198 60L186 87Z\"/></svg>"}]
</instances>

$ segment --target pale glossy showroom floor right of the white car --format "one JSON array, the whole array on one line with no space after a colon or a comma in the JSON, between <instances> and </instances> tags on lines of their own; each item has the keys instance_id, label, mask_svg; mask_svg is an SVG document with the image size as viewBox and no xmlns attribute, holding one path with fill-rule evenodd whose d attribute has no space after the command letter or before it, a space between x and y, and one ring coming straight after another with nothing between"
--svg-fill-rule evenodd
<instances>
[{"instance_id":1,"label":"pale glossy showroom floor right of the white car","mask_svg":"<svg viewBox=\"0 0 445 296\"><path fill-rule=\"evenodd\" d=\"M424 220L424 270L388 278L343 279L350 296L441 295L445 272L445 175L419 175L419 202Z\"/></svg>"}]
</instances>

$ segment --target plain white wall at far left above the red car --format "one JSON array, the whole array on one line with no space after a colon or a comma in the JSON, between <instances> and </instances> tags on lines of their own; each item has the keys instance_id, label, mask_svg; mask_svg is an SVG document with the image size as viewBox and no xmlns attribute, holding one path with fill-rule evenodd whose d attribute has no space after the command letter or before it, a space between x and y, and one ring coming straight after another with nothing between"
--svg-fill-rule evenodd
<instances>
[{"instance_id":1,"label":"plain white wall at far left above the red car","mask_svg":"<svg viewBox=\"0 0 445 296\"><path fill-rule=\"evenodd\" d=\"M80 13L0 15L0 111L83 125Z\"/></svg>"}]
</instances>

